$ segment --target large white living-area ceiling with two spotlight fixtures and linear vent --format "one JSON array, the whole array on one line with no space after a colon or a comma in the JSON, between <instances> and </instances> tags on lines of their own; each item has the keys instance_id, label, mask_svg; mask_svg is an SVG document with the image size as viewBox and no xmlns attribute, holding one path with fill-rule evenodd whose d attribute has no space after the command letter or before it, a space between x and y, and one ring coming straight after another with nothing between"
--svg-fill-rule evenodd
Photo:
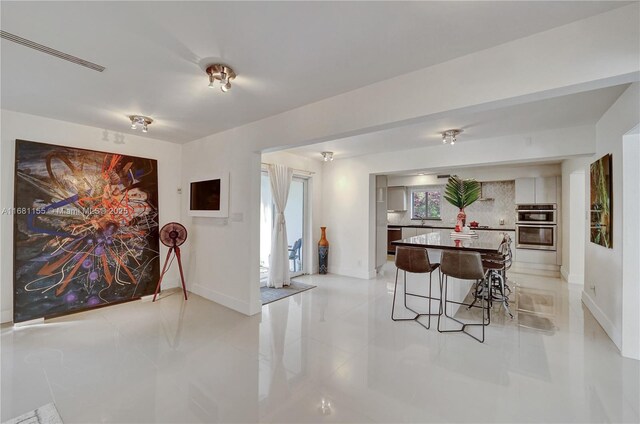
<instances>
[{"instance_id":1,"label":"large white living-area ceiling with two spotlight fixtures and linear vent","mask_svg":"<svg viewBox=\"0 0 640 424\"><path fill-rule=\"evenodd\" d=\"M1 105L187 142L628 2L2 2ZM215 60L239 74L207 88Z\"/></svg>"}]
</instances>

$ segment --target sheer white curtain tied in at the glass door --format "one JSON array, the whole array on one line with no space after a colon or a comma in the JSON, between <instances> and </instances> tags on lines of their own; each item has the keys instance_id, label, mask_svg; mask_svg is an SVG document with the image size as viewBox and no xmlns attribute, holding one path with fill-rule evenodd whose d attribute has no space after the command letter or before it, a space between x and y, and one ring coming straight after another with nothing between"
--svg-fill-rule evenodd
<instances>
[{"instance_id":1,"label":"sheer white curtain tied in at the glass door","mask_svg":"<svg viewBox=\"0 0 640 424\"><path fill-rule=\"evenodd\" d=\"M287 224L284 209L287 207L289 187L293 169L284 165L269 165L271 195L275 205L275 219L271 232L271 256L269 258L269 279L267 286L281 288L291 282L289 277L289 247L287 244Z\"/></svg>"}]
</instances>

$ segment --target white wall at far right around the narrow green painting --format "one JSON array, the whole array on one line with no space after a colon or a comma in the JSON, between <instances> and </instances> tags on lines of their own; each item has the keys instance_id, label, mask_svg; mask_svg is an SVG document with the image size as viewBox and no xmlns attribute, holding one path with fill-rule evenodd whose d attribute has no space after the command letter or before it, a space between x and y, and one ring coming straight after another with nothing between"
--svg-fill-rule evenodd
<instances>
[{"instance_id":1,"label":"white wall at far right around the narrow green painting","mask_svg":"<svg viewBox=\"0 0 640 424\"><path fill-rule=\"evenodd\" d=\"M613 342L622 346L622 261L623 228L637 226L637 221L622 220L624 199L622 138L640 121L640 84L631 85L609 108L596 125L596 152L591 162L607 153L613 155L613 233L612 249L589 241L585 225L585 287L583 301L602 325ZM585 175L589 187L589 174ZM588 193L586 194L588 198ZM634 259L630 259L634 260ZM637 281L637 279L636 279ZM639 308L640 305L636 305Z\"/></svg>"}]
</instances>

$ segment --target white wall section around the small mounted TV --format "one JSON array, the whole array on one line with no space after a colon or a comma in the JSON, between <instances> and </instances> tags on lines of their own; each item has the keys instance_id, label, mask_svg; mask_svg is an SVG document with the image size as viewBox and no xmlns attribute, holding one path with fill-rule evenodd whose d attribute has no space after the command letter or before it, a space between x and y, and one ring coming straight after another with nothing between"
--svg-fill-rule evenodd
<instances>
[{"instance_id":1,"label":"white wall section around the small mounted TV","mask_svg":"<svg viewBox=\"0 0 640 424\"><path fill-rule=\"evenodd\" d=\"M250 143L209 136L183 146L183 191L190 181L229 172L229 218L189 217L182 199L182 221L189 230L187 279L190 289L246 315L261 310L260 167L261 154Z\"/></svg>"}]
</instances>

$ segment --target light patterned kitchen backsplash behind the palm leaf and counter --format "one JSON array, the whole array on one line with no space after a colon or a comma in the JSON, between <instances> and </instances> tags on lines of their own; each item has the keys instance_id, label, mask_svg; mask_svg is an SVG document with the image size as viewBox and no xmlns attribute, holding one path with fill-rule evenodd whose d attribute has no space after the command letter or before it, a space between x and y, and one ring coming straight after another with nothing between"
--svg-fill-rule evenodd
<instances>
[{"instance_id":1,"label":"light patterned kitchen backsplash behind the palm leaf and counter","mask_svg":"<svg viewBox=\"0 0 640 424\"><path fill-rule=\"evenodd\" d=\"M444 188L444 186L442 186ZM407 195L409 193L407 187ZM513 228L516 224L516 187L515 181L496 181L482 183L482 196L493 198L494 200L477 201L465 209L467 213L467 223L477 221L480 225L490 227L500 226L500 219L504 219L504 226ZM407 199L407 205L410 205ZM410 208L410 206L409 206ZM442 221L428 221L433 225L451 225L456 223L458 209L449 202L442 199L440 210ZM395 225L412 225L419 223L411 219L411 211L388 212L387 221Z\"/></svg>"}]
</instances>

